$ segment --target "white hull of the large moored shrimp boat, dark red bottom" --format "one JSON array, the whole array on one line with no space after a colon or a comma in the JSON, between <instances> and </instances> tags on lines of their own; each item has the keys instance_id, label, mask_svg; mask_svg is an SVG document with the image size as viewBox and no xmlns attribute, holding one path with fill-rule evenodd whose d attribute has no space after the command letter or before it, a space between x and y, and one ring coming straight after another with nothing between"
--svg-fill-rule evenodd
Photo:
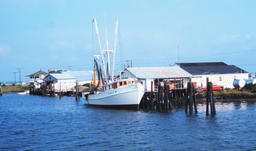
<instances>
[{"instance_id":1,"label":"white hull of the large moored shrimp boat, dark red bottom","mask_svg":"<svg viewBox=\"0 0 256 151\"><path fill-rule=\"evenodd\" d=\"M109 89L95 95L88 95L88 98L85 98L83 93L82 98L83 103L88 106L113 109L139 109L139 103L144 93L144 86L135 84L118 87L117 89Z\"/></svg>"}]
</instances>

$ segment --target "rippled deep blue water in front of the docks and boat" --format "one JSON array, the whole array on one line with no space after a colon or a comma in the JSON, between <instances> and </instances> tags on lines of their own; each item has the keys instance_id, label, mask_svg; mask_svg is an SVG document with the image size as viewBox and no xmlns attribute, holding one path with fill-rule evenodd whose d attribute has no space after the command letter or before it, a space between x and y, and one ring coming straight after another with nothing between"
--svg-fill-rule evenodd
<instances>
[{"instance_id":1,"label":"rippled deep blue water in front of the docks and boat","mask_svg":"<svg viewBox=\"0 0 256 151\"><path fill-rule=\"evenodd\" d=\"M215 116L87 107L74 97L0 96L0 150L256 150L256 103L217 102Z\"/></svg>"}]
</instances>

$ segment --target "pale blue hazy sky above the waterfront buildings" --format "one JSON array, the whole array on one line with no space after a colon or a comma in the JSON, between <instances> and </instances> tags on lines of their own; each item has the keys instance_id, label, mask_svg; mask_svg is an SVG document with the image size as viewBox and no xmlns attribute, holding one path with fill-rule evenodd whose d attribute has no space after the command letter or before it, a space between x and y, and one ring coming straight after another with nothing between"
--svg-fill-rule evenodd
<instances>
[{"instance_id":1,"label":"pale blue hazy sky above the waterfront buildings","mask_svg":"<svg viewBox=\"0 0 256 151\"><path fill-rule=\"evenodd\" d=\"M18 68L21 80L40 68L93 70L93 18L102 47L105 27L114 47L119 18L123 62L118 40L116 70L125 60L133 67L173 65L179 42L180 62L225 62L251 73L255 8L255 0L0 1L0 81L14 81Z\"/></svg>"}]
</instances>

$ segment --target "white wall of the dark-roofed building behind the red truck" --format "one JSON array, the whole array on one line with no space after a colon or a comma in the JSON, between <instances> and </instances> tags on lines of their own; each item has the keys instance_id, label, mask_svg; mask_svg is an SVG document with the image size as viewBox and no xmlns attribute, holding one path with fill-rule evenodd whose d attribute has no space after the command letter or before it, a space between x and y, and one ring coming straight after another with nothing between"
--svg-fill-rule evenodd
<instances>
[{"instance_id":1,"label":"white wall of the dark-roofed building behind the red truck","mask_svg":"<svg viewBox=\"0 0 256 151\"><path fill-rule=\"evenodd\" d=\"M206 86L206 77L209 77L209 82L216 83L217 85L223 85L224 88L234 88L234 79L248 79L248 73L238 73L238 74L222 74L222 75L198 75L201 78L192 78L192 82L197 82L197 86ZM221 81L220 81L221 77Z\"/></svg>"}]
</instances>

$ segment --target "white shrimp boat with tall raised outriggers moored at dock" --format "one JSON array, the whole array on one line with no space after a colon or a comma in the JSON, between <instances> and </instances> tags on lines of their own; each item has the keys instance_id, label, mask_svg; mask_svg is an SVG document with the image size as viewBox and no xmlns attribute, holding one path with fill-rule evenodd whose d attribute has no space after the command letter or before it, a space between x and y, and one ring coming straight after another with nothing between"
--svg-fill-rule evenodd
<instances>
[{"instance_id":1,"label":"white shrimp boat with tall raised outriggers moored at dock","mask_svg":"<svg viewBox=\"0 0 256 151\"><path fill-rule=\"evenodd\" d=\"M97 87L91 89L90 93L82 93L83 103L88 106L95 106L95 107L104 107L104 108L111 108L111 109L139 109L139 103L141 98L145 93L145 87L140 84L136 83L137 79L135 78L125 78L116 80L113 78L114 75L114 65L115 65L115 49L116 49L116 39L117 39L117 25L118 25L118 18L116 20L116 28L115 28L115 47L114 51L109 50L108 48L108 39L106 42L107 50L101 49L100 40L98 36L98 27L96 24L96 18L93 18L93 22L95 23L95 30L98 38L98 44L100 49L100 55L95 55L95 64L98 71L98 84ZM107 72L105 70L103 54L107 53L108 56L108 68ZM113 53L113 72L112 78L110 77L110 67L109 67L109 53ZM101 57L101 58L100 58ZM98 67L98 62L102 63ZM101 69L104 70L104 76L106 83L102 80L102 73ZM95 69L94 69L95 72ZM96 73L94 74L96 75ZM108 75L108 76L107 76ZM110 80L111 79L111 80ZM102 82L103 81L103 82ZM102 82L102 83L101 83ZM96 85L96 76L94 76L93 84ZM97 90L98 88L98 90Z\"/></svg>"}]
</instances>

